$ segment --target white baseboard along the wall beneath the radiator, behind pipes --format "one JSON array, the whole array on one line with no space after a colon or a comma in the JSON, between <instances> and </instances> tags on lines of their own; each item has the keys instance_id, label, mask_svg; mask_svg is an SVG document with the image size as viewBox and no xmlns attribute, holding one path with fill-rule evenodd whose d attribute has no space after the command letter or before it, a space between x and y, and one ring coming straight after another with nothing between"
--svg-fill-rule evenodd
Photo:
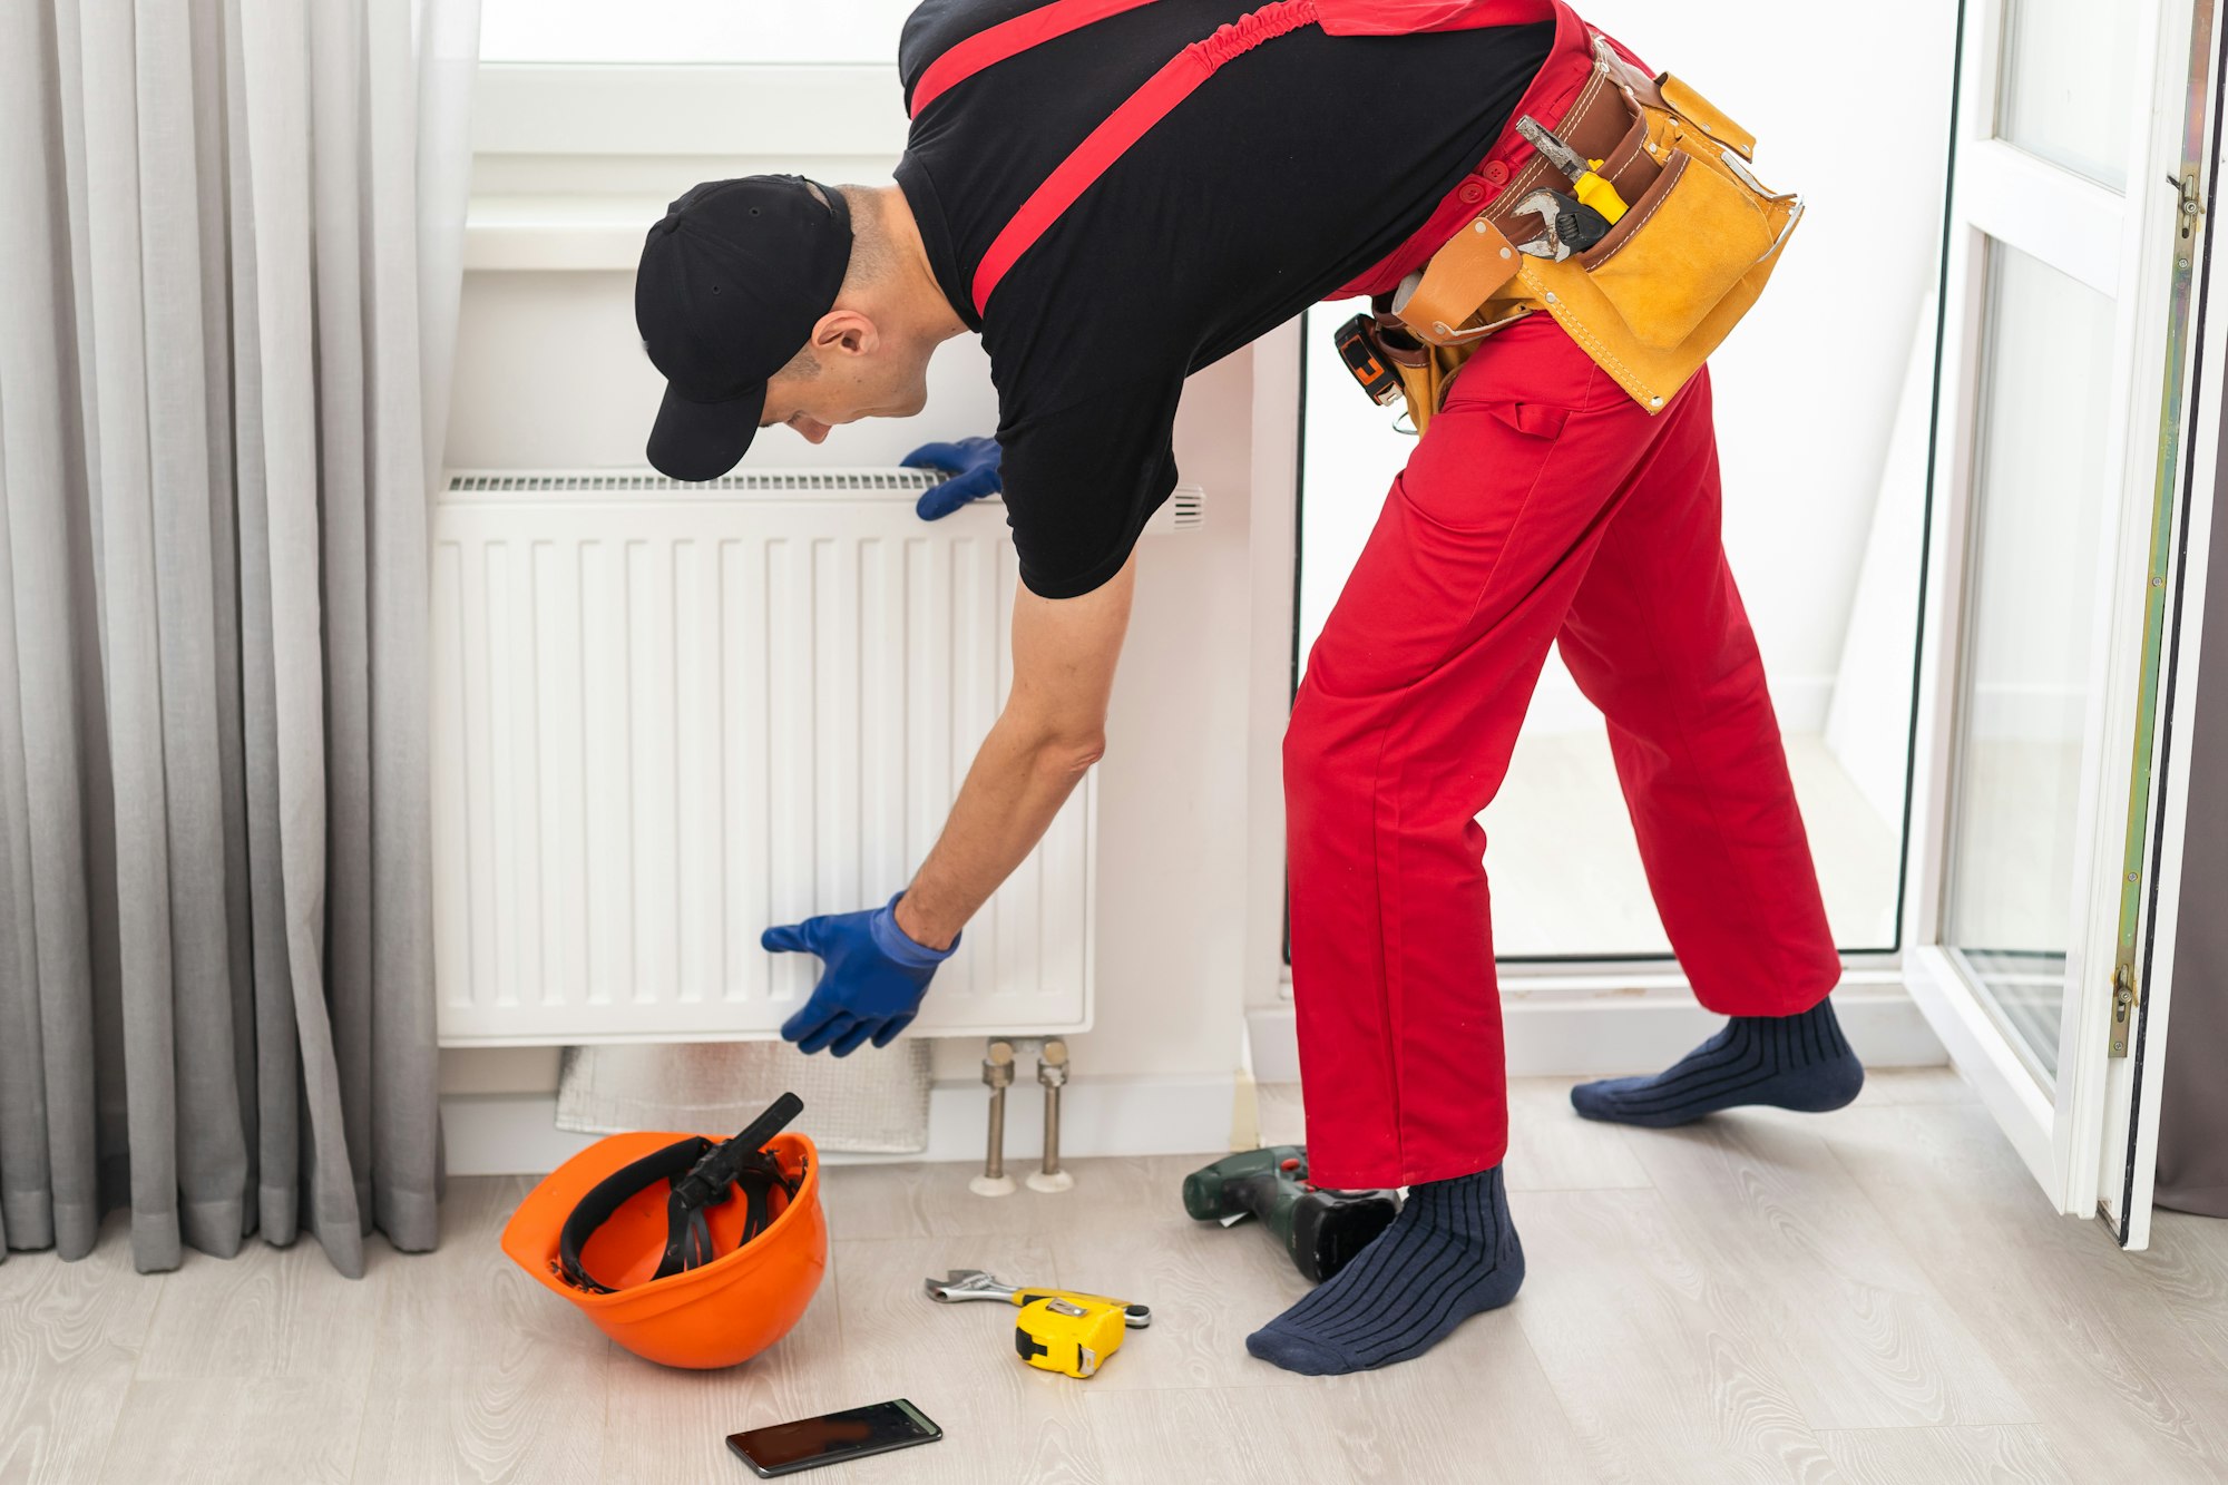
<instances>
[{"instance_id":1,"label":"white baseboard along the wall beneath the radiator, behind pipes","mask_svg":"<svg viewBox=\"0 0 2228 1485\"><path fill-rule=\"evenodd\" d=\"M1076 1077L1061 1097L1061 1155L1201 1155L1228 1151L1239 1117L1239 1075ZM1250 1117L1250 1113L1245 1115ZM553 1093L452 1093L441 1099L450 1175L541 1175L595 1144L557 1128ZM829 1153L831 1166L889 1159L983 1159L989 1095L983 1084L929 1090L929 1148L918 1155ZM1045 1097L1036 1084L1005 1095L1005 1159L1025 1173L1045 1151Z\"/></svg>"}]
</instances>

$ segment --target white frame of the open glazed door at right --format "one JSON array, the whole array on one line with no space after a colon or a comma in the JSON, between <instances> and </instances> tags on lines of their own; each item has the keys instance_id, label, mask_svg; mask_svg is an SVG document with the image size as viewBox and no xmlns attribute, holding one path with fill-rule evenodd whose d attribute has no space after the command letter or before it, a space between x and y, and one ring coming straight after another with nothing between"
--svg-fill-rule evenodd
<instances>
[{"instance_id":1,"label":"white frame of the open glazed door at right","mask_svg":"<svg viewBox=\"0 0 2228 1485\"><path fill-rule=\"evenodd\" d=\"M2210 2L2210 0L2201 0ZM2168 20L2161 25L2161 16ZM1952 1057L1978 1086L1990 1113L2061 1213L2090 1215L2099 1202L2105 1113L2112 1101L2112 965L2123 885L2130 749L2143 658L2143 600L2157 475L2157 421L2166 386L2170 274L2188 74L2188 0L2146 0L2134 47L2141 76L2132 98L2143 127L2130 132L2128 196L2083 181L1994 138L2003 7L1965 11L1965 62L1952 167L1950 239L1938 370L1938 441L1921 642L1918 767L1914 769L1912 892L1903 941L1912 994ZM1978 85L1974 82L1978 80ZM2081 729L2074 885L2065 905L2074 934L2065 963L2054 1086L2030 1066L1961 957L1945 943L1950 809L1956 789L1956 696L1970 566L1976 404L1987 303L1987 239L2036 256L2117 301L2105 468L2121 497L2099 513L2097 586L2090 615L2092 664ZM2123 1130L2126 1126L2121 1126Z\"/></svg>"}]
</instances>

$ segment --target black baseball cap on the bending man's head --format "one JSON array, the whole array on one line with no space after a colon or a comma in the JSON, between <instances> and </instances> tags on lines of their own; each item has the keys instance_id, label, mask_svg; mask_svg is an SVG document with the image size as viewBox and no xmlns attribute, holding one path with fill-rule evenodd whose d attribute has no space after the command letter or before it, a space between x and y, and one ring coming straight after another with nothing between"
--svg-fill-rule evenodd
<instances>
[{"instance_id":1,"label":"black baseball cap on the bending man's head","mask_svg":"<svg viewBox=\"0 0 2228 1485\"><path fill-rule=\"evenodd\" d=\"M666 377L651 464L675 479L735 468L766 410L766 379L836 308L851 205L804 176L706 181L642 243L635 328Z\"/></svg>"}]
</instances>

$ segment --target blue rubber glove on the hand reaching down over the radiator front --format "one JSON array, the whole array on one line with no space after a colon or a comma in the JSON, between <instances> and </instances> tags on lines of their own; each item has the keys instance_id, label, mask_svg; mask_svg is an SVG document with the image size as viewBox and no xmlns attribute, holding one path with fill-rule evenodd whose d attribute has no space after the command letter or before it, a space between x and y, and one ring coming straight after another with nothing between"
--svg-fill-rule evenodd
<instances>
[{"instance_id":1,"label":"blue rubber glove on the hand reaching down over the radiator front","mask_svg":"<svg viewBox=\"0 0 2228 1485\"><path fill-rule=\"evenodd\" d=\"M907 939L898 928L898 896L869 912L804 919L760 934L775 954L820 954L820 983L804 1008L782 1021L782 1039L795 1041L800 1052L831 1048L849 1057L869 1039L889 1046L913 1023L936 965L951 959L960 941L931 950Z\"/></svg>"}]
</instances>

